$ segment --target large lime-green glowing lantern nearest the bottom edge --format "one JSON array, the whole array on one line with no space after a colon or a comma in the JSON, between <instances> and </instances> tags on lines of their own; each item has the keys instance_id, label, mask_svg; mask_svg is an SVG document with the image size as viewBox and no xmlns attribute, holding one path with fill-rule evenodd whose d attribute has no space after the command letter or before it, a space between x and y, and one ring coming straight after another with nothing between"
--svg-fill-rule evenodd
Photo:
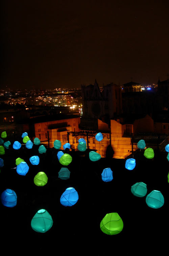
<instances>
[{"instance_id":1,"label":"large lime-green glowing lantern nearest the bottom edge","mask_svg":"<svg viewBox=\"0 0 169 256\"><path fill-rule=\"evenodd\" d=\"M107 235L116 235L123 230L123 221L117 212L107 213L100 222L100 229Z\"/></svg>"}]
</instances>

